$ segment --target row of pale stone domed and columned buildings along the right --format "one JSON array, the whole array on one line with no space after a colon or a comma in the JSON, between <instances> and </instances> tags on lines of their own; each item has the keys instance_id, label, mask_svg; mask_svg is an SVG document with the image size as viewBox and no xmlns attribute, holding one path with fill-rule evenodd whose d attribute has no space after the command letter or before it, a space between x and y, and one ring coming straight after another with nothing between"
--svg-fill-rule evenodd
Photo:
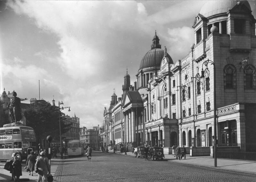
<instances>
[{"instance_id":1,"label":"row of pale stone domed and columned buildings along the right","mask_svg":"<svg viewBox=\"0 0 256 182\"><path fill-rule=\"evenodd\" d=\"M105 145L184 145L210 155L215 138L254 142L255 23L247 1L209 1L194 20L195 42L177 61L155 33L134 86L126 74L122 98L114 93L105 108Z\"/></svg>"}]
</instances>

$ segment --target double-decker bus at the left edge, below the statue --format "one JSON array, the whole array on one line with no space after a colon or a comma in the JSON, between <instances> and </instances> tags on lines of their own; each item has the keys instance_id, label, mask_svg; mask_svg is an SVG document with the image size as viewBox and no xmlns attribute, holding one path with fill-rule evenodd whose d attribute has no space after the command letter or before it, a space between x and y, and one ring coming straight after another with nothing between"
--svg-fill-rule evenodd
<instances>
[{"instance_id":1,"label":"double-decker bus at the left edge, below the statue","mask_svg":"<svg viewBox=\"0 0 256 182\"><path fill-rule=\"evenodd\" d=\"M36 149L36 135L32 127L13 126L0 128L0 160L11 159L12 153L27 159L31 150Z\"/></svg>"}]
</instances>

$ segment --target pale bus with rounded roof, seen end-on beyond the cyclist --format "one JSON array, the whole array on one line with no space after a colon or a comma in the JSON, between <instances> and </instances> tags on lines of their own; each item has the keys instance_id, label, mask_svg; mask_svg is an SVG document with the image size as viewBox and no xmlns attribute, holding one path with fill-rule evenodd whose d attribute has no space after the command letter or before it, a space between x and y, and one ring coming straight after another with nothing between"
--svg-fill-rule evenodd
<instances>
[{"instance_id":1,"label":"pale bus with rounded roof, seen end-on beyond the cyclist","mask_svg":"<svg viewBox=\"0 0 256 182\"><path fill-rule=\"evenodd\" d=\"M67 144L68 156L83 156L84 144L80 140L70 140Z\"/></svg>"}]
</instances>

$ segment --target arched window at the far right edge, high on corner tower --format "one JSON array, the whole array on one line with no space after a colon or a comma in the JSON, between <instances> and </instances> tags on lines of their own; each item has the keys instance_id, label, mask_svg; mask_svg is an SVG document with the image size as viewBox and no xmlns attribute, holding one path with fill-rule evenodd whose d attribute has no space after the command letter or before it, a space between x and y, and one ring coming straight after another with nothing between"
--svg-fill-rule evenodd
<instances>
[{"instance_id":1,"label":"arched window at the far right edge, high on corner tower","mask_svg":"<svg viewBox=\"0 0 256 182\"><path fill-rule=\"evenodd\" d=\"M244 88L255 88L255 67L248 64L244 67Z\"/></svg>"}]
</instances>

